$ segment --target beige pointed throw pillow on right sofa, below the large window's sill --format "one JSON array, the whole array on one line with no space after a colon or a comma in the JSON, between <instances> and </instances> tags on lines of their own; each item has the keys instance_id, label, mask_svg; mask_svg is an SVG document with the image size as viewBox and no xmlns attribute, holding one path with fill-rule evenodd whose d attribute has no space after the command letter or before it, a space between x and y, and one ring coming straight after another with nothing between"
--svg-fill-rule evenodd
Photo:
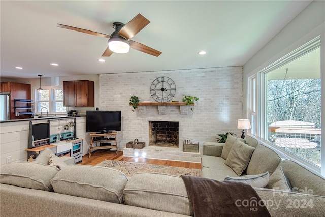
<instances>
[{"instance_id":1,"label":"beige pointed throw pillow on right sofa, below the large window's sill","mask_svg":"<svg viewBox=\"0 0 325 217\"><path fill-rule=\"evenodd\" d=\"M291 191L289 180L284 174L282 167L278 167L270 176L269 189L276 189L282 191Z\"/></svg>"}]
</instances>

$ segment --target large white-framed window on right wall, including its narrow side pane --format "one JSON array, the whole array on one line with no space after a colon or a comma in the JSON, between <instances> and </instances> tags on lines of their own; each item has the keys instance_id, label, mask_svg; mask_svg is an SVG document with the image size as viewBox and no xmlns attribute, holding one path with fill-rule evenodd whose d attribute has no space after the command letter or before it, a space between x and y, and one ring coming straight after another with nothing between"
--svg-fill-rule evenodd
<instances>
[{"instance_id":1,"label":"large white-framed window on right wall, including its narrow side pane","mask_svg":"<svg viewBox=\"0 0 325 217\"><path fill-rule=\"evenodd\" d=\"M320 60L317 37L259 72L257 87L255 76L248 79L248 112L260 129L252 127L252 134L315 168L321 166Z\"/></svg>"}]
</instances>

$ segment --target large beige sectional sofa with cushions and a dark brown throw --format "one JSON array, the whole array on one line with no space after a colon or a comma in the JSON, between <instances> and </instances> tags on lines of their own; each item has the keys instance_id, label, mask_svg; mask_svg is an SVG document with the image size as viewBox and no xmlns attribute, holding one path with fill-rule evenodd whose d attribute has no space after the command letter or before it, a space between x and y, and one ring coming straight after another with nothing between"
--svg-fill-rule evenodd
<instances>
[{"instance_id":1,"label":"large beige sectional sofa with cushions and a dark brown throw","mask_svg":"<svg viewBox=\"0 0 325 217\"><path fill-rule=\"evenodd\" d=\"M283 160L253 137L227 141L204 144L205 178L250 184L271 216L325 213L324 178ZM111 168L74 165L69 158L42 153L33 163L13 162L1 168L2 216L193 216L181 177L138 173L128 178Z\"/></svg>"}]
</instances>

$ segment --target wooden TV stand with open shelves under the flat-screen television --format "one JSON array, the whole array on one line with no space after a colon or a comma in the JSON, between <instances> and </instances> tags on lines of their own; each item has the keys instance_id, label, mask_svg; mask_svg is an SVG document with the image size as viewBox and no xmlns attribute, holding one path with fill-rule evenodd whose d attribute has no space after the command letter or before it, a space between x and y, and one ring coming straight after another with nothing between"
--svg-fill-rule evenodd
<instances>
[{"instance_id":1,"label":"wooden TV stand with open shelves under the flat-screen television","mask_svg":"<svg viewBox=\"0 0 325 217\"><path fill-rule=\"evenodd\" d=\"M116 141L116 134L117 132L112 132L112 133L101 133L101 134L96 134L96 133L91 133L89 134L89 136L91 137L91 143L90 143L90 147L89 147L89 158L91 156L91 150L99 150L99 149L111 149L111 148L116 148L116 154L117 154L117 141ZM105 137L108 138L105 138ZM104 137L104 139L102 140L96 140L96 137ZM104 145L104 146L95 146L92 147L93 143L109 143L115 141L115 145Z\"/></svg>"}]
</instances>

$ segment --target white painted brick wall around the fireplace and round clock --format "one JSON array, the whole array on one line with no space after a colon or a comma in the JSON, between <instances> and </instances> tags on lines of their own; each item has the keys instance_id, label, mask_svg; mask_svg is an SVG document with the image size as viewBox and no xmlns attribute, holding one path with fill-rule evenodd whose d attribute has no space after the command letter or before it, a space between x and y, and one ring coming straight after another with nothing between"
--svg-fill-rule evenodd
<instances>
[{"instance_id":1,"label":"white painted brick wall around the fireplace and round clock","mask_svg":"<svg viewBox=\"0 0 325 217\"><path fill-rule=\"evenodd\" d=\"M133 95L138 96L140 102L154 102L150 85L160 76L176 83L173 101L181 102L185 95L199 98L193 111L181 115L179 107L167 106L166 114L161 115L157 107L147 106L145 113L132 112L129 98ZM237 119L243 117L242 67L101 74L99 82L100 110L122 111L122 131L117 135L119 150L135 138L148 145L149 120L178 121L180 148L184 139L197 140L201 153L202 144L215 141L217 134L231 131L241 135Z\"/></svg>"}]
</instances>

